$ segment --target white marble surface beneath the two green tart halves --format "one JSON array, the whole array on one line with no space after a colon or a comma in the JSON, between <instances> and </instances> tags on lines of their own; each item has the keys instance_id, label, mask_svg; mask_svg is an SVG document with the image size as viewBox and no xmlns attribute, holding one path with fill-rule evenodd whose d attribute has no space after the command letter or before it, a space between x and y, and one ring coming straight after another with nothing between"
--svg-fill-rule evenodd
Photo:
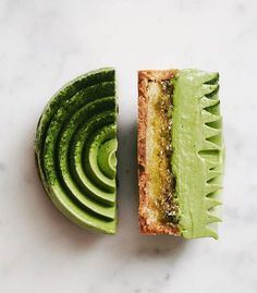
<instances>
[{"instance_id":1,"label":"white marble surface beneath the two green tart halves","mask_svg":"<svg viewBox=\"0 0 257 293\"><path fill-rule=\"evenodd\" d=\"M120 223L72 224L45 195L34 130L65 82L101 66L119 78ZM137 232L138 69L221 74L227 145L220 240ZM0 292L257 292L257 2L0 1Z\"/></svg>"}]
</instances>

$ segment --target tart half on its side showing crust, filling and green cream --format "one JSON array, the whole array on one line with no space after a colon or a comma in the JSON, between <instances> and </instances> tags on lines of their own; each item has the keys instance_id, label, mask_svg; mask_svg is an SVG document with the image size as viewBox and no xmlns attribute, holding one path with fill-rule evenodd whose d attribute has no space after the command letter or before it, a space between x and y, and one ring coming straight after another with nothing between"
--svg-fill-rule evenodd
<instances>
[{"instance_id":1,"label":"tart half on its side showing crust, filling and green cream","mask_svg":"<svg viewBox=\"0 0 257 293\"><path fill-rule=\"evenodd\" d=\"M219 74L138 72L139 228L217 239L223 173Z\"/></svg>"}]
</instances>

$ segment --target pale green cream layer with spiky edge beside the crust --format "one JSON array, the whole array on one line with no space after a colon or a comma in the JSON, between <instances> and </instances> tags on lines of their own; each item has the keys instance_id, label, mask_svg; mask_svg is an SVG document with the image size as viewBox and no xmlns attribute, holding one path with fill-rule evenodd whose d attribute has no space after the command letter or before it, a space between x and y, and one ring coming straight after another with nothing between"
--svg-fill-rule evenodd
<instances>
[{"instance_id":1,"label":"pale green cream layer with spiky edge beside the crust","mask_svg":"<svg viewBox=\"0 0 257 293\"><path fill-rule=\"evenodd\" d=\"M218 237L217 206L223 171L218 73L182 70L175 76L172 173L184 237Z\"/></svg>"}]
</instances>

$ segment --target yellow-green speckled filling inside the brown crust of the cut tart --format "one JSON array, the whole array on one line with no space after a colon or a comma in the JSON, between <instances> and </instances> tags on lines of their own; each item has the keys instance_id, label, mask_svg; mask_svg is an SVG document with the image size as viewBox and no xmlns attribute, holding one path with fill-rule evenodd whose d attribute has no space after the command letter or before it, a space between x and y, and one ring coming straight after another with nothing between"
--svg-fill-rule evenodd
<instances>
[{"instance_id":1,"label":"yellow-green speckled filling inside the brown crust of the cut tart","mask_svg":"<svg viewBox=\"0 0 257 293\"><path fill-rule=\"evenodd\" d=\"M148 196L152 220L162 224L176 224L175 182L171 172L172 86L169 82L151 81L147 88Z\"/></svg>"}]
</instances>

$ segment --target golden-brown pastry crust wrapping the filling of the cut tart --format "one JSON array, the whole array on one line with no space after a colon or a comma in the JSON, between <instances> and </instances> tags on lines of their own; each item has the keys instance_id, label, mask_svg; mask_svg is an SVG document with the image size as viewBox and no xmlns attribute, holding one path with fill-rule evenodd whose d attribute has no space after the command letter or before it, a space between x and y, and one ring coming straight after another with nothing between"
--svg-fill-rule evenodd
<instances>
[{"instance_id":1,"label":"golden-brown pastry crust wrapping the filling of the cut tart","mask_svg":"<svg viewBox=\"0 0 257 293\"><path fill-rule=\"evenodd\" d=\"M139 230L144 234L172 234L179 235L178 227L150 221L149 197L147 191L148 174L146 171L146 133L147 133L147 86L150 81L166 81L174 77L176 70L139 71L138 72L138 188L139 188Z\"/></svg>"}]
</instances>

